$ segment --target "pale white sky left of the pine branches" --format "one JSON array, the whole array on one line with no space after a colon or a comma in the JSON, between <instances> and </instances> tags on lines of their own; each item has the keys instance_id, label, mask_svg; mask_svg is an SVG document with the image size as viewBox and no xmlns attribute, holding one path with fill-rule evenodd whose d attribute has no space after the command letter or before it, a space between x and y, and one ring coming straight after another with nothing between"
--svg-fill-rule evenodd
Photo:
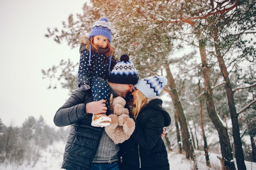
<instances>
[{"instance_id":1,"label":"pale white sky left of the pine branches","mask_svg":"<svg viewBox=\"0 0 256 170\"><path fill-rule=\"evenodd\" d=\"M0 118L20 126L42 115L54 126L55 112L67 100L68 90L47 89L41 69L61 59L79 60L79 47L70 49L45 38L47 27L61 28L70 13L81 13L85 0L0 0Z\"/></svg>"}]
</instances>

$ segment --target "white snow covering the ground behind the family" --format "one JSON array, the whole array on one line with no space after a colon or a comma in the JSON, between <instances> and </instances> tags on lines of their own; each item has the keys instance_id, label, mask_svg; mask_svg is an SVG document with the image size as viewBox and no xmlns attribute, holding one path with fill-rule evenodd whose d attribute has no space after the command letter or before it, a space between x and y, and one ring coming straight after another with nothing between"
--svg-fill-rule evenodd
<instances>
[{"instance_id":1,"label":"white snow covering the ground behind the family","mask_svg":"<svg viewBox=\"0 0 256 170\"><path fill-rule=\"evenodd\" d=\"M33 166L25 162L21 166L14 164L0 164L0 170L62 170L61 164L63 160L63 153L65 148L65 142L54 142L45 150L40 151L40 158ZM205 164L204 151L195 150L198 169L199 170L221 170L220 154L209 153L211 168L208 168ZM168 159L170 164L170 170L193 170L193 161L186 159L184 154L178 154L176 151L168 153ZM236 161L234 159L234 161ZM247 170L256 170L256 163L245 161Z\"/></svg>"}]
</instances>

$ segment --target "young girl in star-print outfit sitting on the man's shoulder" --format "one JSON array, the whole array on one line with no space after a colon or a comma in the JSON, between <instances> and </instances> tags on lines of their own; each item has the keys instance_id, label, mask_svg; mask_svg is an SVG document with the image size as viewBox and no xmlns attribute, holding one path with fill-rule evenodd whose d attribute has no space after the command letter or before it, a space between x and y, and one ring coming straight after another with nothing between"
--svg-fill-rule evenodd
<instances>
[{"instance_id":1,"label":"young girl in star-print outfit sitting on the man's shoulder","mask_svg":"<svg viewBox=\"0 0 256 170\"><path fill-rule=\"evenodd\" d=\"M109 86L106 82L117 61L114 48L110 46L111 28L106 17L101 17L92 26L88 40L82 40L78 70L78 86L82 91L91 89L94 101L106 100L109 107ZM111 119L104 113L93 114L92 126L105 127Z\"/></svg>"}]
</instances>

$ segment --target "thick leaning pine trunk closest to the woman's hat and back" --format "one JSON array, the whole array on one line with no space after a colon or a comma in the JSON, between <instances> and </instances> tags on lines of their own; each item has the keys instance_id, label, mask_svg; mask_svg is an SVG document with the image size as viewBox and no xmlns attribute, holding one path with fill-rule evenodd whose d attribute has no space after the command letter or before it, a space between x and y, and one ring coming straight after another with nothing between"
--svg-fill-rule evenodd
<instances>
[{"instance_id":1,"label":"thick leaning pine trunk closest to the woman's hat and back","mask_svg":"<svg viewBox=\"0 0 256 170\"><path fill-rule=\"evenodd\" d=\"M173 75L171 74L171 69L169 67L169 64L166 64L165 69L166 69L167 79L168 79L168 83L166 86L170 87L170 95L172 98L172 102L175 107L175 110L177 111L178 119L180 122L180 129L182 133L183 148L186 152L186 158L187 159L191 158L195 163L196 169L198 169L196 165L195 153L191 143L191 138L189 136L189 129L186 122L186 117L184 115L183 108L180 103L180 99L176 90L176 85L173 79Z\"/></svg>"}]
</instances>

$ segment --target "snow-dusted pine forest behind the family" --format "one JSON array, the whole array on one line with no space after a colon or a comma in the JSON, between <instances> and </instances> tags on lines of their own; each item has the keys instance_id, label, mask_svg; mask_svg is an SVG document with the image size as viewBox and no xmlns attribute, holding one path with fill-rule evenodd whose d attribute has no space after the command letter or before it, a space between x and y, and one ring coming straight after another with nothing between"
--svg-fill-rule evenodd
<instances>
[{"instance_id":1,"label":"snow-dusted pine forest behind the family","mask_svg":"<svg viewBox=\"0 0 256 170\"><path fill-rule=\"evenodd\" d=\"M111 23L117 59L128 54L140 78L168 79L160 97L172 118L164 137L170 169L177 159L188 170L256 169L255 0L91 0L45 37L78 47L102 16ZM71 94L78 67L79 60L63 58L42 69L43 78L48 88ZM34 166L40 149L65 143L69 128L56 129L43 117L20 128L0 119L0 163Z\"/></svg>"}]
</instances>

